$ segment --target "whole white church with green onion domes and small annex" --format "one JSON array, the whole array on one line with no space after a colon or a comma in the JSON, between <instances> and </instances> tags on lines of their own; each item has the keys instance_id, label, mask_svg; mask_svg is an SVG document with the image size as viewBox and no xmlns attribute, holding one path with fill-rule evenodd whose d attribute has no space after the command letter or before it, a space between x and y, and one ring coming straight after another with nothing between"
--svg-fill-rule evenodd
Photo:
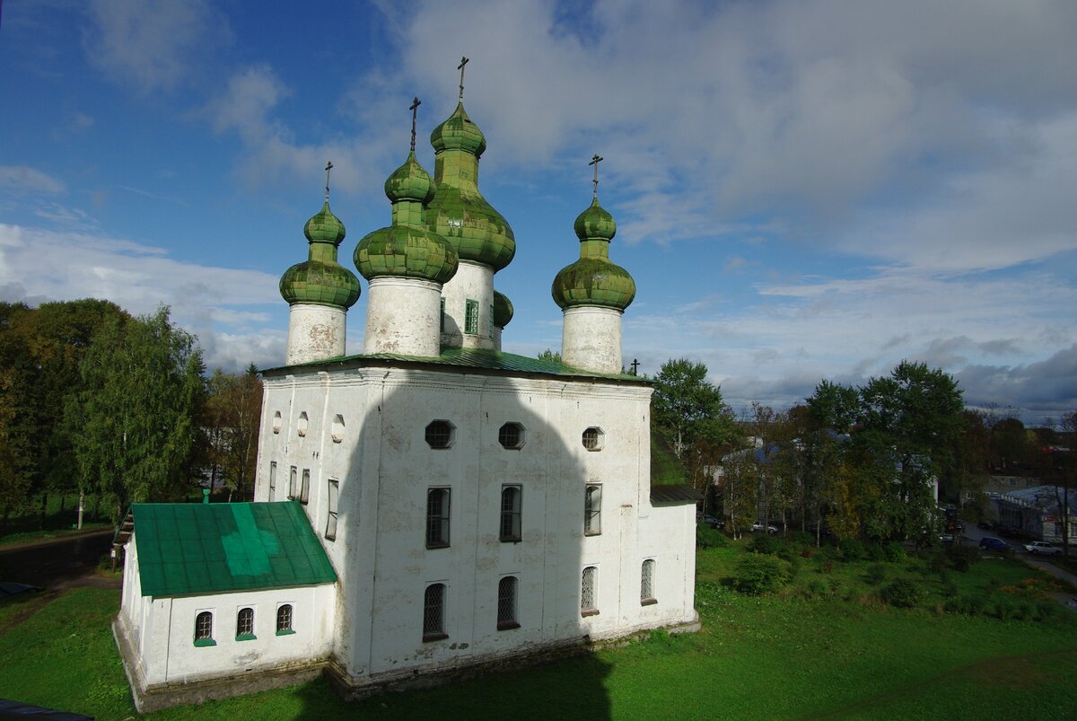
<instances>
[{"instance_id":1,"label":"whole white church with green onion domes and small annex","mask_svg":"<svg viewBox=\"0 0 1077 721\"><path fill-rule=\"evenodd\" d=\"M698 627L700 497L652 485L653 388L621 366L635 286L597 171L553 285L563 362L524 358L501 350L516 240L478 190L481 131L461 101L432 133L433 178L414 137L391 224L353 253L363 352L345 355L361 287L327 190L281 278L254 502L135 504L117 533L113 629L142 711L321 673L361 696Z\"/></svg>"}]
</instances>

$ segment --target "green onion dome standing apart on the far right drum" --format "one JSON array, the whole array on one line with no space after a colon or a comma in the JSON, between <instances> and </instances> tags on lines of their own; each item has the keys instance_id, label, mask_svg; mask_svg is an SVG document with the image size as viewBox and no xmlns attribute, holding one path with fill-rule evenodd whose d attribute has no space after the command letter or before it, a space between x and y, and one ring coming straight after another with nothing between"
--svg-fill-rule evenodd
<instances>
[{"instance_id":1,"label":"green onion dome standing apart on the far right drum","mask_svg":"<svg viewBox=\"0 0 1077 721\"><path fill-rule=\"evenodd\" d=\"M617 232L613 217L595 198L576 218L574 227L579 238L579 260L561 268L554 278L554 302L561 308L624 310L635 297L635 281L628 271L610 261L610 240Z\"/></svg>"}]
</instances>

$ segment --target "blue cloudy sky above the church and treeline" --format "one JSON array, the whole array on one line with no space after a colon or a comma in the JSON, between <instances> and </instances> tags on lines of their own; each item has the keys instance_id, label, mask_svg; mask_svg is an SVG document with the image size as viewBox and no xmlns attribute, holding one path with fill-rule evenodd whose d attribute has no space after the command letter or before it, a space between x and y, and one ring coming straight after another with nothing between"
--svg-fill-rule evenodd
<instances>
[{"instance_id":1,"label":"blue cloudy sky above the church and treeline","mask_svg":"<svg viewBox=\"0 0 1077 721\"><path fill-rule=\"evenodd\" d=\"M1038 424L1077 407L1074 37L1066 1L6 0L0 300L166 303L211 368L281 363L325 161L353 267L466 55L506 350L560 346L599 153L626 363L703 361L739 410L923 360Z\"/></svg>"}]
</instances>

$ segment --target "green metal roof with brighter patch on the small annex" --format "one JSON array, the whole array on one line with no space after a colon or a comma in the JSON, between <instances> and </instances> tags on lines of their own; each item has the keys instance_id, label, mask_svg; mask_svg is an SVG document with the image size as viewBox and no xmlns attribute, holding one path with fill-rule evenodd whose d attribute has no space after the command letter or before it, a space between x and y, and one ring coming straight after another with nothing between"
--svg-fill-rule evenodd
<instances>
[{"instance_id":1,"label":"green metal roof with brighter patch on the small annex","mask_svg":"<svg viewBox=\"0 0 1077 721\"><path fill-rule=\"evenodd\" d=\"M134 503L143 596L333 583L297 502Z\"/></svg>"}]
</instances>

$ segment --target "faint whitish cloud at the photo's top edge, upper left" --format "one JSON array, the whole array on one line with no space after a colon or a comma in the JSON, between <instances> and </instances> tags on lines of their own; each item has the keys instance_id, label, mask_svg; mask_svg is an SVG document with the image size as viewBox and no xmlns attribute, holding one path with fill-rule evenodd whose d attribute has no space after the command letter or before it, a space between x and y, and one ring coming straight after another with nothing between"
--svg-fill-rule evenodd
<instances>
[{"instance_id":1,"label":"faint whitish cloud at the photo's top edge, upper left","mask_svg":"<svg viewBox=\"0 0 1077 721\"><path fill-rule=\"evenodd\" d=\"M205 0L94 0L88 13L83 45L90 61L143 92L179 85L207 50L230 38L224 16Z\"/></svg>"}]
</instances>

